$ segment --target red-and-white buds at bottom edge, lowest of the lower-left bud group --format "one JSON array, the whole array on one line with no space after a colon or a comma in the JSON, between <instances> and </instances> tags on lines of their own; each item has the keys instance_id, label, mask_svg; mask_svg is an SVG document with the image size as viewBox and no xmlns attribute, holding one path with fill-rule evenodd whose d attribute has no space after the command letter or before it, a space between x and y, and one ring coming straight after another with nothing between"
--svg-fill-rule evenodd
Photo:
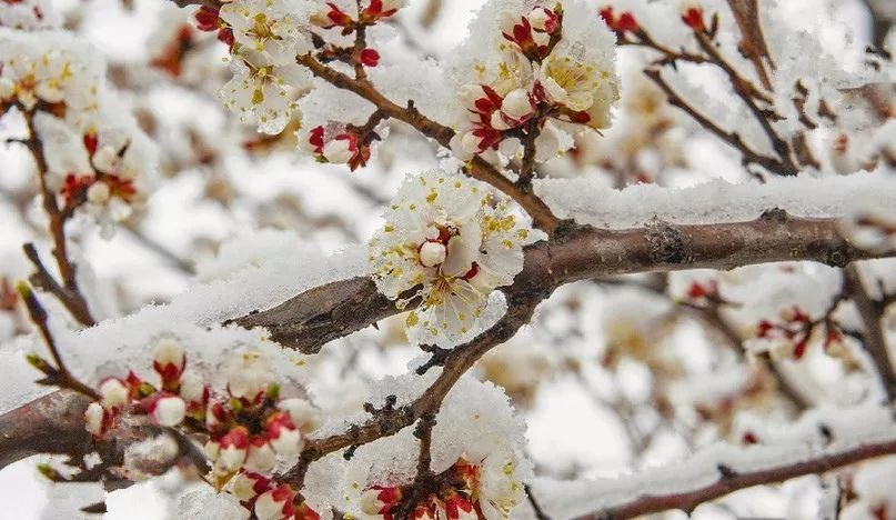
<instances>
[{"instance_id":1,"label":"red-and-white buds at bottom edge, lowest of the lower-left bud group","mask_svg":"<svg viewBox=\"0 0 896 520\"><path fill-rule=\"evenodd\" d=\"M259 520L320 520L290 484L279 484L261 473L240 471L229 491ZM298 502L298 503L296 503Z\"/></svg>"}]
</instances>

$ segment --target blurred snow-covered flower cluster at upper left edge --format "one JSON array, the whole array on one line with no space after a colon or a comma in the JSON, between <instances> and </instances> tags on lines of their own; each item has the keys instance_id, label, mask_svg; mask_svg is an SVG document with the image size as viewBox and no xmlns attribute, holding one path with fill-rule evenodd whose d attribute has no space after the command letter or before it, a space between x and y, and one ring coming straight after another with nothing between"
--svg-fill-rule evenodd
<instances>
[{"instance_id":1,"label":"blurred snow-covered flower cluster at upper left edge","mask_svg":"<svg viewBox=\"0 0 896 520\"><path fill-rule=\"evenodd\" d=\"M92 49L58 32L2 30L0 42L0 113L33 121L60 209L83 208L110 231L145 200L154 148L105 89Z\"/></svg>"}]
</instances>

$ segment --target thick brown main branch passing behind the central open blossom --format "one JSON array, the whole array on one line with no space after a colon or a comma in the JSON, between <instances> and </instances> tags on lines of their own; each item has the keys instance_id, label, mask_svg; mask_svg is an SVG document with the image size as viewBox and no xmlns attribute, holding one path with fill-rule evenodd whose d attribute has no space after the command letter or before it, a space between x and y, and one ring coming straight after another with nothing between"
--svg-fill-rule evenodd
<instances>
[{"instance_id":1,"label":"thick brown main branch passing behind the central open blossom","mask_svg":"<svg viewBox=\"0 0 896 520\"><path fill-rule=\"evenodd\" d=\"M623 231L576 227L550 242L526 248L516 283L542 276L543 269L562 284L612 274L732 269L789 260L842 267L876 257L844 240L835 219L774 214L775 218L718 224L655 221ZM265 327L274 341L313 353L330 340L397 312L370 279L353 278L311 289L270 310L234 321L246 328Z\"/></svg>"}]
</instances>

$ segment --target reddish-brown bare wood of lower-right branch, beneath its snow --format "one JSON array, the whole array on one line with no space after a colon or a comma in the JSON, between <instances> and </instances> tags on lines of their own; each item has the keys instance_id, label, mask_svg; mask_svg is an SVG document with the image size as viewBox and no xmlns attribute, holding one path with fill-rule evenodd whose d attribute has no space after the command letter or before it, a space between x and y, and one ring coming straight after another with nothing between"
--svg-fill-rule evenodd
<instances>
[{"instance_id":1,"label":"reddish-brown bare wood of lower-right branch, beneath its snow","mask_svg":"<svg viewBox=\"0 0 896 520\"><path fill-rule=\"evenodd\" d=\"M671 509L692 511L701 503L715 500L739 489L782 482L804 474L824 473L866 459L893 453L896 453L896 440L887 440L757 471L744 473L719 471L718 480L708 486L677 493L638 497L631 502L580 517L578 520L622 520Z\"/></svg>"}]
</instances>

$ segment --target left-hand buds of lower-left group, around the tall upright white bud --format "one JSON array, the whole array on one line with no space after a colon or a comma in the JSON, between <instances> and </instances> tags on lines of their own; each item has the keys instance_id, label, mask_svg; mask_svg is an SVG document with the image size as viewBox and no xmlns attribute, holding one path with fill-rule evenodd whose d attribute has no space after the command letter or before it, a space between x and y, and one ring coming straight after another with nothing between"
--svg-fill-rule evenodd
<instances>
[{"instance_id":1,"label":"left-hand buds of lower-left group, around the tall upright white bud","mask_svg":"<svg viewBox=\"0 0 896 520\"><path fill-rule=\"evenodd\" d=\"M161 340L152 361L157 384L133 372L124 379L105 378L98 389L99 402L90 403L84 414L87 430L102 438L125 407L145 413L161 427L180 424L190 411L204 413L209 389L197 374L185 371L185 366L183 348L174 340Z\"/></svg>"}]
</instances>

